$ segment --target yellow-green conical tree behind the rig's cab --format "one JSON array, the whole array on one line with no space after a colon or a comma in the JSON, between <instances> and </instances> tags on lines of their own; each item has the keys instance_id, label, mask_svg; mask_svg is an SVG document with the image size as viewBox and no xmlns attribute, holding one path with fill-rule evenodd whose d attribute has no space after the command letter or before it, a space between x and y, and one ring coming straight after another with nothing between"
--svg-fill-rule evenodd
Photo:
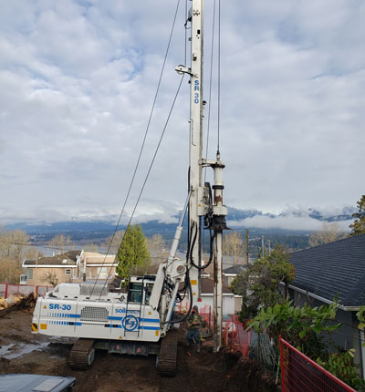
<instances>
[{"instance_id":1,"label":"yellow-green conical tree behind the rig's cab","mask_svg":"<svg viewBox=\"0 0 365 392\"><path fill-rule=\"evenodd\" d=\"M128 226L117 253L117 273L128 281L131 273L145 273L151 264L151 255L141 226Z\"/></svg>"}]
</instances>

